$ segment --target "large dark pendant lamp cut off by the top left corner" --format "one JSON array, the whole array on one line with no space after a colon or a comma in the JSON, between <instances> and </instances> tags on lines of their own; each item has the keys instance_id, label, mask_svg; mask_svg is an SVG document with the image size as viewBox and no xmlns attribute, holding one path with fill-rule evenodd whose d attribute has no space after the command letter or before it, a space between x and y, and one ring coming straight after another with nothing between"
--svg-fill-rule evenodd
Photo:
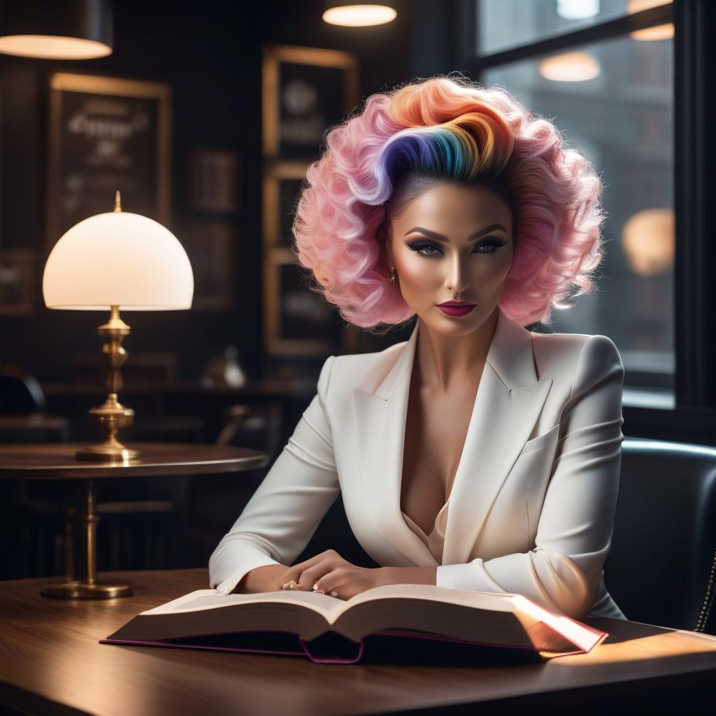
<instances>
[{"instance_id":1,"label":"large dark pendant lamp cut off by the top left corner","mask_svg":"<svg viewBox=\"0 0 716 716\"><path fill-rule=\"evenodd\" d=\"M39 59L112 54L108 0L10 0L0 10L0 52Z\"/></svg>"}]
</instances>

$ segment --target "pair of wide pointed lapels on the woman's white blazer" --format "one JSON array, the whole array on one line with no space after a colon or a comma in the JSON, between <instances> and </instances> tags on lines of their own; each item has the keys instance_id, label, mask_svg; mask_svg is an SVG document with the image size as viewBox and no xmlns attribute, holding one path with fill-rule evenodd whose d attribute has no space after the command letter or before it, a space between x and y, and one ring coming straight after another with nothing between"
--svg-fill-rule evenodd
<instances>
[{"instance_id":1,"label":"pair of wide pointed lapels on the woman's white blazer","mask_svg":"<svg viewBox=\"0 0 716 716\"><path fill-rule=\"evenodd\" d=\"M400 509L405 422L419 321L373 392L353 390L362 480L382 536L407 564L437 564ZM450 492L443 564L468 561L495 498L540 415L552 379L537 380L531 335L499 311Z\"/></svg>"}]
</instances>

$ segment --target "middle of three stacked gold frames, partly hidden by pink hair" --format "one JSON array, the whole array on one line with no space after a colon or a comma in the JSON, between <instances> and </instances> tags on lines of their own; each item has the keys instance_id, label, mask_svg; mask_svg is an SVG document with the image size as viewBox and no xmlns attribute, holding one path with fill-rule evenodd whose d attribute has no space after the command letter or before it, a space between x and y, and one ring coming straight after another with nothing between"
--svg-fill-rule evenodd
<instances>
[{"instance_id":1,"label":"middle of three stacked gold frames, partly hidden by pink hair","mask_svg":"<svg viewBox=\"0 0 716 716\"><path fill-rule=\"evenodd\" d=\"M309 162L269 162L263 170L263 249L291 248L296 200Z\"/></svg>"}]
</instances>

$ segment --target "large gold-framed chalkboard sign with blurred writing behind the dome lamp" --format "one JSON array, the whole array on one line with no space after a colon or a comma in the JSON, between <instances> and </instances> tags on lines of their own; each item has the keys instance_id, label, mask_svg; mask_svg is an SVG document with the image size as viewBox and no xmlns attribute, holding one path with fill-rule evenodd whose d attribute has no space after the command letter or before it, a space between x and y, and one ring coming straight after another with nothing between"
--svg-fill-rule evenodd
<instances>
[{"instance_id":1,"label":"large gold-framed chalkboard sign with blurred writing behind the dome lamp","mask_svg":"<svg viewBox=\"0 0 716 716\"><path fill-rule=\"evenodd\" d=\"M171 213L171 101L164 82L52 74L47 248L82 219L122 209L165 226Z\"/></svg>"}]
</instances>

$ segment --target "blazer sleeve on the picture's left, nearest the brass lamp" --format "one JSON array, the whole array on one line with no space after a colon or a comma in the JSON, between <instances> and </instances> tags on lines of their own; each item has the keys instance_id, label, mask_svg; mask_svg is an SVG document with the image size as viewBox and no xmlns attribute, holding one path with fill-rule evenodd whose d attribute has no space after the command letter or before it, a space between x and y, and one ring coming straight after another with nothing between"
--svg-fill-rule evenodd
<instances>
[{"instance_id":1,"label":"blazer sleeve on the picture's left, nearest the brass lamp","mask_svg":"<svg viewBox=\"0 0 716 716\"><path fill-rule=\"evenodd\" d=\"M229 594L251 569L289 566L304 550L340 488L326 414L335 357L293 435L209 558L209 586Z\"/></svg>"}]
</instances>

